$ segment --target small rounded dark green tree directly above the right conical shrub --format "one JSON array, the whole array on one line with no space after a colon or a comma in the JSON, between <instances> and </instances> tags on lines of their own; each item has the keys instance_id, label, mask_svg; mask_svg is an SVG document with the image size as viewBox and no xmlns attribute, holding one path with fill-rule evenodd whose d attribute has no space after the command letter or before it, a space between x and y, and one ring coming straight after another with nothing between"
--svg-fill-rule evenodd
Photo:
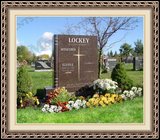
<instances>
[{"instance_id":1,"label":"small rounded dark green tree directly above the right conical shrub","mask_svg":"<svg viewBox=\"0 0 160 140\"><path fill-rule=\"evenodd\" d=\"M119 51L120 51L121 57L125 57L127 59L128 56L132 53L133 49L131 48L131 45L124 43L120 47Z\"/></svg>"}]
</instances>

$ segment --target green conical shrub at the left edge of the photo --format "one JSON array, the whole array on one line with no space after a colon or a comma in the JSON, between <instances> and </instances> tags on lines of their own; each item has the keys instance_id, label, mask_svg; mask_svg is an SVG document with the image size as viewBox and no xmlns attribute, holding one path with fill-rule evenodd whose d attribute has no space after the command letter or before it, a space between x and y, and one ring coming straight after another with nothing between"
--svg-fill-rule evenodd
<instances>
[{"instance_id":1,"label":"green conical shrub at the left edge of the photo","mask_svg":"<svg viewBox=\"0 0 160 140\"><path fill-rule=\"evenodd\" d=\"M32 79L25 66L19 68L17 73L17 97L22 98L32 91Z\"/></svg>"}]
</instances>

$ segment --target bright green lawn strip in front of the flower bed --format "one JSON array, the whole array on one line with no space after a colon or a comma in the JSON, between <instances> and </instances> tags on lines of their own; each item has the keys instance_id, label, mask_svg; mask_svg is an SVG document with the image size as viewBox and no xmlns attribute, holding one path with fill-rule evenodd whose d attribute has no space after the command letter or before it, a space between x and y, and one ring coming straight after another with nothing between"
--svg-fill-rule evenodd
<instances>
[{"instance_id":1,"label":"bright green lawn strip in front of the flower bed","mask_svg":"<svg viewBox=\"0 0 160 140\"><path fill-rule=\"evenodd\" d=\"M17 123L143 123L143 97L62 113L43 113L41 108L18 109Z\"/></svg>"}]
</instances>

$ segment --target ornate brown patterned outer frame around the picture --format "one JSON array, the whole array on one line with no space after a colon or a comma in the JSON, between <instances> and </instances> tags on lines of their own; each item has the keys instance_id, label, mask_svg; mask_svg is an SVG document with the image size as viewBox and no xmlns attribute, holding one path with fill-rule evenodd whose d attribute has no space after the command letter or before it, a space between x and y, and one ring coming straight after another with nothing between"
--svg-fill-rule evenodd
<instances>
[{"instance_id":1,"label":"ornate brown patterned outer frame around the picture","mask_svg":"<svg viewBox=\"0 0 160 140\"><path fill-rule=\"evenodd\" d=\"M159 4L158 1L3 1L1 2L1 138L158 138L159 137ZM9 132L8 131L8 13L10 8L141 8L152 11L152 131L150 132Z\"/></svg>"}]
</instances>

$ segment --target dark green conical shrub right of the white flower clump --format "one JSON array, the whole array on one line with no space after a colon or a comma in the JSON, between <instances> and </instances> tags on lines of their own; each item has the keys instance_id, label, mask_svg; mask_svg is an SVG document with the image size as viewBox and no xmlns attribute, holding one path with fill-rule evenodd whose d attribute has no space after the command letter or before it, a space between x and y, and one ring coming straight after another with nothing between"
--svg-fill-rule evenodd
<instances>
[{"instance_id":1,"label":"dark green conical shrub right of the white flower clump","mask_svg":"<svg viewBox=\"0 0 160 140\"><path fill-rule=\"evenodd\" d=\"M112 71L111 78L118 83L122 90L129 90L133 86L133 81L128 77L123 63L118 63Z\"/></svg>"}]
</instances>

